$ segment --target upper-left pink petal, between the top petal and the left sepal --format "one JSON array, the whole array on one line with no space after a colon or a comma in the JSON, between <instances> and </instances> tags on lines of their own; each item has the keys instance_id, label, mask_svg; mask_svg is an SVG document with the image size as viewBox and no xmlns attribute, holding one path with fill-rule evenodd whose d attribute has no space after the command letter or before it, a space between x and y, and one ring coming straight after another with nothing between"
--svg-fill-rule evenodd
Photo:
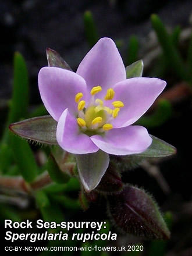
<instances>
[{"instance_id":1,"label":"upper-left pink petal, between the top petal and the left sepal","mask_svg":"<svg viewBox=\"0 0 192 256\"><path fill-rule=\"evenodd\" d=\"M83 93L83 99L86 98L86 81L78 74L59 67L42 67L38 86L45 108L56 121L66 108L72 113L77 111L74 101L77 93Z\"/></svg>"}]
</instances>

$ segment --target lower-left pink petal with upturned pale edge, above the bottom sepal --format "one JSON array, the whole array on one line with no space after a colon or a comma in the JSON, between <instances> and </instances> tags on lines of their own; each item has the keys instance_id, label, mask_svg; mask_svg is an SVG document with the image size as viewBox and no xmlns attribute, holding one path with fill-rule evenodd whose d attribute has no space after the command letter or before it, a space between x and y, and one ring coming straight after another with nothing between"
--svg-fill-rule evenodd
<instances>
[{"instance_id":1,"label":"lower-left pink petal with upturned pale edge, above the bottom sepal","mask_svg":"<svg viewBox=\"0 0 192 256\"><path fill-rule=\"evenodd\" d=\"M68 109L59 118L56 139L60 147L72 154L87 154L98 151L98 147L86 134L80 133L77 119L70 115Z\"/></svg>"}]
</instances>

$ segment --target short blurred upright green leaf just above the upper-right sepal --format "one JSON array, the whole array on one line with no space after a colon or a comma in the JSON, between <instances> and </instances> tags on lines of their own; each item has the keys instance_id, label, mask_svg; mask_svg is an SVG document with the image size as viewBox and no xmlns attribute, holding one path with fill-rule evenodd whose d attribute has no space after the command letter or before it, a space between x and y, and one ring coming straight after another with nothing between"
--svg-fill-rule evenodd
<instances>
[{"instance_id":1,"label":"short blurred upright green leaf just above the upper-right sepal","mask_svg":"<svg viewBox=\"0 0 192 256\"><path fill-rule=\"evenodd\" d=\"M128 45L127 63L131 65L136 62L138 55L138 39L135 35L131 35Z\"/></svg>"}]
</instances>

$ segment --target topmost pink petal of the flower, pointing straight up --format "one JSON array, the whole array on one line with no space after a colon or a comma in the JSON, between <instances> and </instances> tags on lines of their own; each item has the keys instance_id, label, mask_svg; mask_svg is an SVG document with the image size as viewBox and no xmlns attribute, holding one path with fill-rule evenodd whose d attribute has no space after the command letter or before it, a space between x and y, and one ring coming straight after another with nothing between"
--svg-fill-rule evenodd
<instances>
[{"instance_id":1,"label":"topmost pink petal of the flower, pointing straight up","mask_svg":"<svg viewBox=\"0 0 192 256\"><path fill-rule=\"evenodd\" d=\"M106 94L106 89L126 79L125 66L111 38L101 38L81 61L77 74L87 83L87 90L101 86L98 98Z\"/></svg>"}]
</instances>

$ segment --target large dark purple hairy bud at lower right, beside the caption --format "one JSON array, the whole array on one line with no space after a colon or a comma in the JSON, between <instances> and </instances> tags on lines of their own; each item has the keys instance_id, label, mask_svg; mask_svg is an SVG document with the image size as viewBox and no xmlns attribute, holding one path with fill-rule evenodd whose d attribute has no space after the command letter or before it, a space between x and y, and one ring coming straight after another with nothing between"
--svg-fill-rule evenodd
<instances>
[{"instance_id":1,"label":"large dark purple hairy bud at lower right, beside the caption","mask_svg":"<svg viewBox=\"0 0 192 256\"><path fill-rule=\"evenodd\" d=\"M108 197L108 213L113 223L127 233L147 239L169 239L170 232L157 203L144 190L126 185Z\"/></svg>"}]
</instances>

